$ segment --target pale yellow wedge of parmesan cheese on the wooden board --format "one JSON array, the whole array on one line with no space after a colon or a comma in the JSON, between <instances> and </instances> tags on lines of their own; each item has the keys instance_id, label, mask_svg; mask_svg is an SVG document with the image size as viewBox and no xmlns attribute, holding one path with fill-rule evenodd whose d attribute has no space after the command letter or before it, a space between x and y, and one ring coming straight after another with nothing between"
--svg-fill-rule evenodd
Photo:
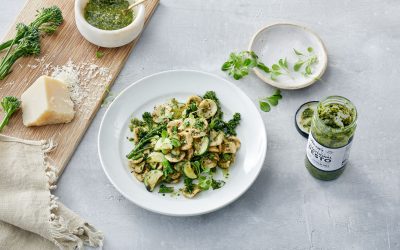
<instances>
[{"instance_id":1,"label":"pale yellow wedge of parmesan cheese on the wooden board","mask_svg":"<svg viewBox=\"0 0 400 250\"><path fill-rule=\"evenodd\" d=\"M68 123L75 116L74 103L62 81L39 77L21 96L25 126Z\"/></svg>"}]
</instances>

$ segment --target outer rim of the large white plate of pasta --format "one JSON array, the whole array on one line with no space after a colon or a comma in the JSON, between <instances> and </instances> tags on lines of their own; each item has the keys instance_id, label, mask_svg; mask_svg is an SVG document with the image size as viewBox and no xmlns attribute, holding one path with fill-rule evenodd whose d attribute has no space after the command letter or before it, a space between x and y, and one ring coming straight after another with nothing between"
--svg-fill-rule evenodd
<instances>
[{"instance_id":1,"label":"outer rim of the large white plate of pasta","mask_svg":"<svg viewBox=\"0 0 400 250\"><path fill-rule=\"evenodd\" d=\"M133 86L135 86L136 84L154 77L154 76L158 76L158 75L162 75L162 74L168 74L168 73L174 73L174 72L192 72L192 73L197 73L197 74L204 74L204 75L208 75L214 78L218 78L221 81L226 82L228 85L230 85L231 88L234 88L240 92L243 93L243 95L245 96L245 98L247 98L250 103L254 106L255 109L257 109L257 107L254 105L253 101L250 99L250 97L244 92L242 91L239 87L237 87L235 84L231 83L230 81L228 81L227 79L224 79L218 75L212 74L212 73L208 73L208 72L204 72L204 71L200 71L200 70L191 70L191 69L174 69L174 70L165 70L165 71L160 71L160 72L156 72L154 74L145 76L143 78L140 78L136 81L134 81L133 83L129 84L127 87L125 87L113 100L113 102L108 106L107 110L104 112L104 115L101 119L100 122L100 126L99 126L99 130L98 130L98 134L97 134L97 151L98 151L98 156L99 156L99 160L100 160L100 164L101 167L105 173L105 175L107 176L107 179L111 182L111 184L113 185L113 187L122 195L124 196L127 200L129 200L131 203L135 204L136 206L145 209L147 211L156 213L156 214L162 214L162 215L167 215L167 216L172 216L172 217L191 217L191 216L198 216L198 215L203 215L203 214L208 214L208 213L212 213L215 212L219 209L222 209L226 206L228 206L229 204L232 204L233 202L235 202L239 197L241 197L244 193L247 192L247 190L254 184L255 180L258 178L258 176L260 175L261 170L264 167L264 163L265 163L265 159L266 159L266 155L267 155L267 150L268 150L268 136L267 136L267 131L266 131L266 126L264 123L264 120L262 119L262 116L260 114L260 112L257 112L257 116L259 117L259 119L261 120L261 124L262 124L262 131L265 135L265 142L262 144L262 147L265 148L265 150L262 150L262 155L261 155L261 162L260 162L260 167L258 167L257 172L254 176L254 178L247 184L247 186L233 199L229 200L228 202L223 203L222 205L216 206L212 209L206 209L204 211L200 211L200 212L191 212L191 213L185 213L185 214L177 214L177 213L168 213L168 212L162 212L162 211L158 211L156 209L152 209L150 207L144 206L142 204L140 204L139 202L136 202L134 200L132 200L127 194L125 194L125 192L123 190L121 190L118 185L116 185L116 183L114 183L113 179L110 177L105 164L103 162L103 157L102 157L102 153L101 153L101 149L100 149L100 137L102 134L102 131L104 129L104 123L105 123L105 119L107 117L107 114L110 112L111 108L113 107L113 104L115 103L115 101L120 98L126 91L128 91L128 89L132 88Z\"/></svg>"}]
</instances>

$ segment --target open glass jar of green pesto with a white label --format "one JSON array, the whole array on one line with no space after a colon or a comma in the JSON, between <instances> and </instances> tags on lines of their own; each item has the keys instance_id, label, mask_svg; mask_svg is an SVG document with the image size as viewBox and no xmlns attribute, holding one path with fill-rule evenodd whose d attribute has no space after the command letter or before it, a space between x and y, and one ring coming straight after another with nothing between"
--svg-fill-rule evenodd
<instances>
[{"instance_id":1,"label":"open glass jar of green pesto with a white label","mask_svg":"<svg viewBox=\"0 0 400 250\"><path fill-rule=\"evenodd\" d=\"M318 103L311 121L305 165L320 180L339 177L347 164L357 126L354 104L342 96L329 96Z\"/></svg>"}]
</instances>

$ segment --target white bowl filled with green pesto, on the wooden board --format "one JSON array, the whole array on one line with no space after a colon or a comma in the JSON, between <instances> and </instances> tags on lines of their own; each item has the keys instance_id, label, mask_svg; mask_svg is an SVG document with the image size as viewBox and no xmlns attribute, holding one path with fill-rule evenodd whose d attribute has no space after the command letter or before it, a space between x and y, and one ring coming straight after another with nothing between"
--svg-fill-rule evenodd
<instances>
[{"instance_id":1,"label":"white bowl filled with green pesto, on the wooden board","mask_svg":"<svg viewBox=\"0 0 400 250\"><path fill-rule=\"evenodd\" d=\"M75 22L89 42L116 48L139 36L145 21L143 4L128 10L134 0L75 0Z\"/></svg>"}]
</instances>

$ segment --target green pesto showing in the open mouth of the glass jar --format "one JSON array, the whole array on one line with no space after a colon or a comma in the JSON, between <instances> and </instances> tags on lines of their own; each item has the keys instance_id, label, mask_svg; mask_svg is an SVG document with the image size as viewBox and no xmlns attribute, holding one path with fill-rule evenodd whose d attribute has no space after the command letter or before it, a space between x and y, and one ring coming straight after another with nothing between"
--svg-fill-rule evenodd
<instances>
[{"instance_id":1,"label":"green pesto showing in the open mouth of the glass jar","mask_svg":"<svg viewBox=\"0 0 400 250\"><path fill-rule=\"evenodd\" d=\"M328 127L344 128L353 122L354 110L342 104L332 103L326 106L320 105L318 107L318 116Z\"/></svg>"}]
</instances>

